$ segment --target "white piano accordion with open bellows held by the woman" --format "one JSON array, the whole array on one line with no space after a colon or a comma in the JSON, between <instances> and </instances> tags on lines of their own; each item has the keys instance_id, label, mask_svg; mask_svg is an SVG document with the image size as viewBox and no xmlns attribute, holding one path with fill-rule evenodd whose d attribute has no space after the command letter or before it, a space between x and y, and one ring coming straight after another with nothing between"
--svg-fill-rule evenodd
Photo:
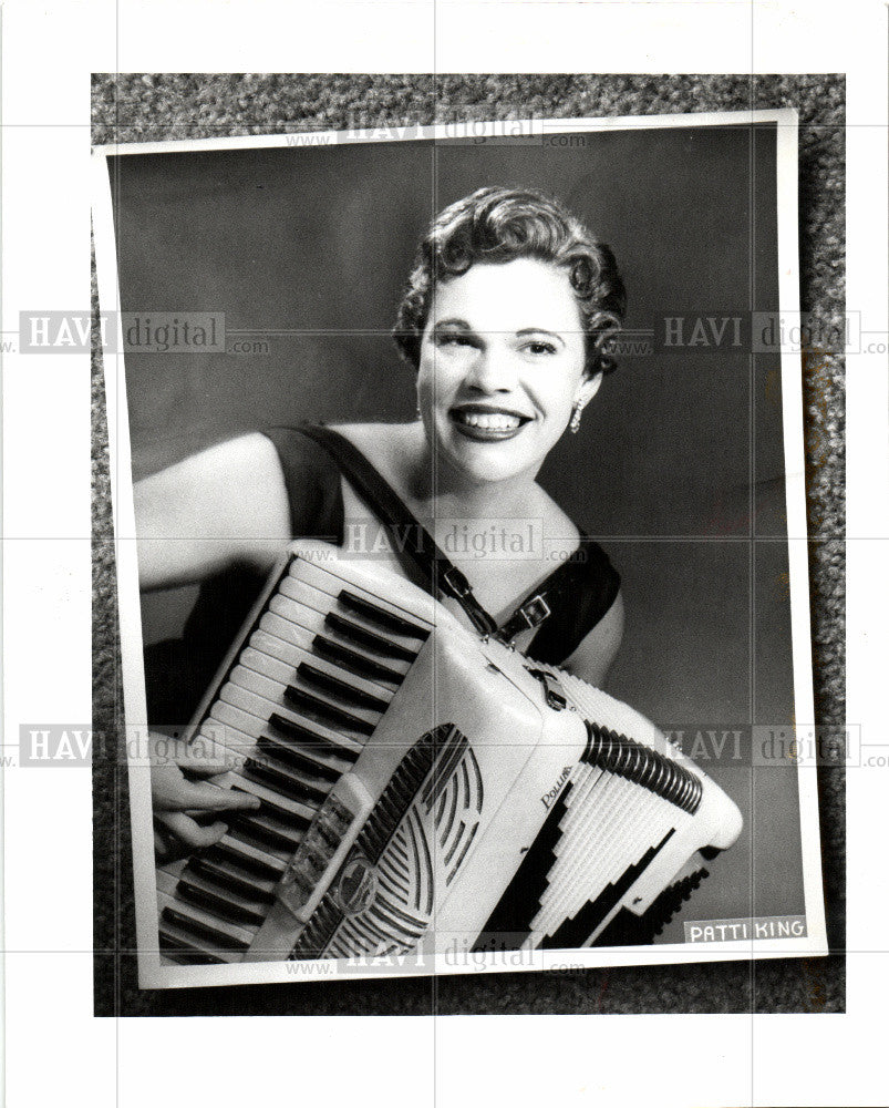
<instances>
[{"instance_id":1,"label":"white piano accordion with open bellows held by the woman","mask_svg":"<svg viewBox=\"0 0 889 1108\"><path fill-rule=\"evenodd\" d=\"M291 544L186 738L260 807L157 870L165 964L614 944L742 825L633 709L322 543Z\"/></svg>"}]
</instances>

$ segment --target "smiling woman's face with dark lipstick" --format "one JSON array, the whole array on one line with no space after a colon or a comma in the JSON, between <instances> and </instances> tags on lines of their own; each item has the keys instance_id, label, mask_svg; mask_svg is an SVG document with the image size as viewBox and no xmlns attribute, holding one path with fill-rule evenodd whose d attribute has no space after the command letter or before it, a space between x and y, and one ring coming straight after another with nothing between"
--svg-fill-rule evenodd
<instances>
[{"instance_id":1,"label":"smiling woman's face with dark lipstick","mask_svg":"<svg viewBox=\"0 0 889 1108\"><path fill-rule=\"evenodd\" d=\"M534 258L438 285L417 393L440 461L473 483L534 479L601 373L583 376L580 311L564 269Z\"/></svg>"}]
</instances>

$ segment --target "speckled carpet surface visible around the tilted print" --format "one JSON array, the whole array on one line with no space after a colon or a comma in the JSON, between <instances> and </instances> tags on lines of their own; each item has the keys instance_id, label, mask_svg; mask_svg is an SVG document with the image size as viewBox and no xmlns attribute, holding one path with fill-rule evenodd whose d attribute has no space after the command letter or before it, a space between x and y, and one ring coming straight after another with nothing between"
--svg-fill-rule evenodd
<instances>
[{"instance_id":1,"label":"speckled carpet surface visible around the tilted print","mask_svg":"<svg viewBox=\"0 0 889 1108\"><path fill-rule=\"evenodd\" d=\"M845 310L844 81L837 75L97 75L93 141L146 142L287 131L795 107L799 130L800 306L831 327ZM366 121L366 123L362 123ZM116 578L101 357L93 375L94 716L123 728ZM845 720L844 365L804 362L816 722ZM97 759L97 1015L840 1012L845 1007L843 770L819 773L829 958L629 967L435 981L139 992L125 773Z\"/></svg>"}]
</instances>

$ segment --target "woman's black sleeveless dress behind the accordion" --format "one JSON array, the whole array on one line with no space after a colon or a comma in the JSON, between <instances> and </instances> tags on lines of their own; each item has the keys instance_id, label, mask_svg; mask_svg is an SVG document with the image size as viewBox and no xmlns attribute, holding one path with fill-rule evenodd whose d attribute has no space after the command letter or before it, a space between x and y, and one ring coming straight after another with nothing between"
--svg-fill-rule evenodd
<instances>
[{"instance_id":1,"label":"woman's black sleeveless dress behind the accordion","mask_svg":"<svg viewBox=\"0 0 889 1108\"><path fill-rule=\"evenodd\" d=\"M342 471L333 456L299 427L267 428L283 470L290 505L290 533L341 545L344 531ZM365 464L370 468L370 463ZM379 478L382 482L382 479ZM375 512L374 504L369 505ZM385 513L379 512L385 520ZM405 576L425 587L406 560ZM265 583L266 574L236 565L204 582L183 637L145 650L148 722L184 728L207 690ZM556 584L556 603L525 654L558 665L568 658L604 616L620 588L620 577L604 551L581 531L572 557L559 564L534 592Z\"/></svg>"}]
</instances>

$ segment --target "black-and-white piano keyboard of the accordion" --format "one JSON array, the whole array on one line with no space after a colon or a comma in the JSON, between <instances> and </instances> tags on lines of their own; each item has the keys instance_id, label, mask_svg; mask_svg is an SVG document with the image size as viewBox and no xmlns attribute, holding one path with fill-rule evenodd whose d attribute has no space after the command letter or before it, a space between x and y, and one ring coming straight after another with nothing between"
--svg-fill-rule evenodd
<instances>
[{"instance_id":1,"label":"black-and-white piano keyboard of the accordion","mask_svg":"<svg viewBox=\"0 0 889 1108\"><path fill-rule=\"evenodd\" d=\"M232 767L214 783L260 807L230 818L216 845L158 871L165 958L242 960L287 861L430 630L422 614L291 558L194 732Z\"/></svg>"}]
</instances>

